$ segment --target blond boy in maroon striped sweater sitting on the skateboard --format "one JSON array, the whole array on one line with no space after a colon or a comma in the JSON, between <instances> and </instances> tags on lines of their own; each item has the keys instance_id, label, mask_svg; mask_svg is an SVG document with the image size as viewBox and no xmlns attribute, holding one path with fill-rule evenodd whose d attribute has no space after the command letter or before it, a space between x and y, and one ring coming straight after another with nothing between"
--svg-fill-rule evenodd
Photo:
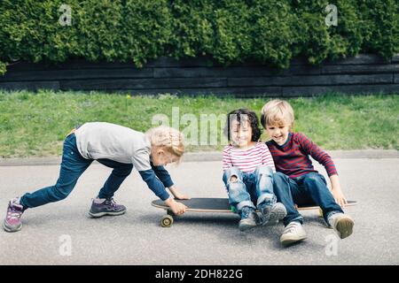
<instances>
[{"instance_id":1,"label":"blond boy in maroon striped sweater sitting on the skateboard","mask_svg":"<svg viewBox=\"0 0 399 283\"><path fill-rule=\"evenodd\" d=\"M344 239L352 233L354 221L341 209L347 200L342 194L332 158L304 134L292 133L293 121L293 108L286 101L275 99L262 108L261 122L271 138L266 143L277 171L273 176L273 189L278 202L283 203L287 210L284 218L286 228L280 241L288 245L306 239L303 218L295 204L320 206L325 222ZM331 192L309 156L325 166L332 184Z\"/></svg>"}]
</instances>

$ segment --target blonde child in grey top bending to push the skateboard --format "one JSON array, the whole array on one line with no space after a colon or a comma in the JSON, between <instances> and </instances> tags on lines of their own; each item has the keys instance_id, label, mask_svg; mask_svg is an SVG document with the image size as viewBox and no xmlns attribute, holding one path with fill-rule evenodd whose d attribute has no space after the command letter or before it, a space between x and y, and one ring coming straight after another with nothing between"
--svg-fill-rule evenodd
<instances>
[{"instance_id":1,"label":"blonde child in grey top bending to push the skateboard","mask_svg":"<svg viewBox=\"0 0 399 283\"><path fill-rule=\"evenodd\" d=\"M170 127L155 127L143 134L110 123L83 124L66 136L57 183L52 187L44 187L32 194L27 193L12 199L4 219L4 230L19 231L22 227L20 217L28 208L65 199L94 160L113 168L113 172L91 203L91 217L125 213L126 208L113 201L113 194L129 176L133 167L137 168L153 193L168 204L170 210L177 215L183 214L186 206L169 196L165 187L168 187L177 199L188 197L178 192L163 167L179 161L183 154L183 134Z\"/></svg>"}]
</instances>

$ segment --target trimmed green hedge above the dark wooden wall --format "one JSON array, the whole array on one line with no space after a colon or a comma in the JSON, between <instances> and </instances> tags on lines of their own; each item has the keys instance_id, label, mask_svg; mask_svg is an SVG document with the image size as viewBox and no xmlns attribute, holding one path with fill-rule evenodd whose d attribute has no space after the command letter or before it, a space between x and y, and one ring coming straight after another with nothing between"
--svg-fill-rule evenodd
<instances>
[{"instance_id":1,"label":"trimmed green hedge above the dark wooden wall","mask_svg":"<svg viewBox=\"0 0 399 283\"><path fill-rule=\"evenodd\" d=\"M61 4L72 25L59 25ZM338 7L338 26L325 7ZM359 52L399 52L397 0L2 0L0 73L17 60L63 62L213 57L288 67L296 56L318 64Z\"/></svg>"}]
</instances>

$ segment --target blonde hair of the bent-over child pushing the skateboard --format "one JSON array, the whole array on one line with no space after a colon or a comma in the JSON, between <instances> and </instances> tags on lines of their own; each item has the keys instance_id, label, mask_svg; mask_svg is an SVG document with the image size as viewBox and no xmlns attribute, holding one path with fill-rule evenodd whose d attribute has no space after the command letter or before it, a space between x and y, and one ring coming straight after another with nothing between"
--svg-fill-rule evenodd
<instances>
[{"instance_id":1,"label":"blonde hair of the bent-over child pushing the skateboard","mask_svg":"<svg viewBox=\"0 0 399 283\"><path fill-rule=\"evenodd\" d=\"M149 129L145 135L152 146L163 147L176 157L184 154L184 136L170 126L157 126Z\"/></svg>"}]
</instances>

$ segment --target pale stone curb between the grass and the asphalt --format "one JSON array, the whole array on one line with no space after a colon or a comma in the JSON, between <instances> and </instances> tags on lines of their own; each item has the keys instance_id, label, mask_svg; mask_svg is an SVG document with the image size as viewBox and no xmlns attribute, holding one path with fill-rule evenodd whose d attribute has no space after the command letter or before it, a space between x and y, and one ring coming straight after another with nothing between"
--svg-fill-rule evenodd
<instances>
[{"instance_id":1,"label":"pale stone curb between the grass and the asphalt","mask_svg":"<svg viewBox=\"0 0 399 283\"><path fill-rule=\"evenodd\" d=\"M348 158L399 158L399 150L395 149L356 149L356 150L328 150L334 159ZM188 152L184 155L183 162L209 162L222 161L222 151ZM26 157L26 158L0 158L1 166L43 166L57 165L61 157Z\"/></svg>"}]
</instances>

